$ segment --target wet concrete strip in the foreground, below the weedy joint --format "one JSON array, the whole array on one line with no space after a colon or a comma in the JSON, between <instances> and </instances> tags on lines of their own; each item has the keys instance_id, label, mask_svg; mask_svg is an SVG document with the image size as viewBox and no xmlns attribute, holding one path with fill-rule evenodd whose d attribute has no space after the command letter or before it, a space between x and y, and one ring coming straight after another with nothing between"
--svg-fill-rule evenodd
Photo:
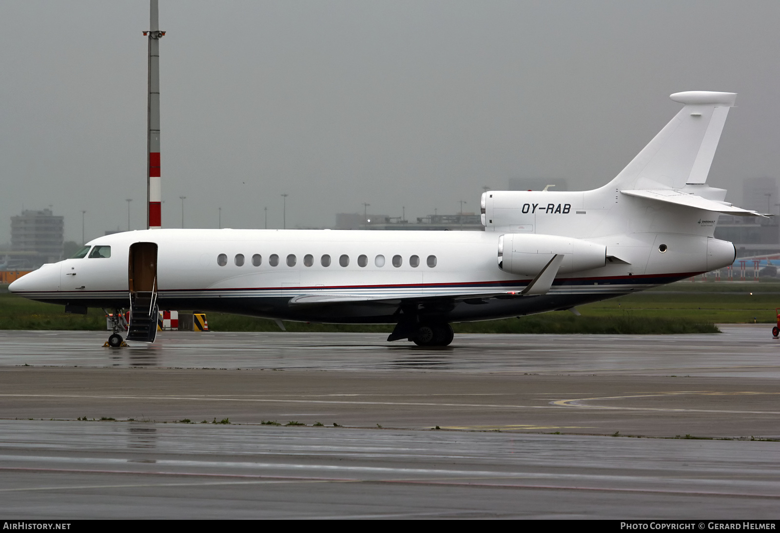
<instances>
[{"instance_id":1,"label":"wet concrete strip in the foreground, below the weedy joint","mask_svg":"<svg viewBox=\"0 0 780 533\"><path fill-rule=\"evenodd\" d=\"M69 518L773 518L777 443L0 422L0 513Z\"/></svg>"}]
</instances>

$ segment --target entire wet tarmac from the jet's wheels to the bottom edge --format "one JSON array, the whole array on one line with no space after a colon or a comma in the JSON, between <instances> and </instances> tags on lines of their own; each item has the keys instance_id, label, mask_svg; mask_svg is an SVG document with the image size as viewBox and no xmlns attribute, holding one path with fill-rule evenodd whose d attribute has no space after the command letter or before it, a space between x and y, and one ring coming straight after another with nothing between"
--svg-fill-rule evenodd
<instances>
[{"instance_id":1,"label":"entire wet tarmac from the jet's wheels to the bottom edge","mask_svg":"<svg viewBox=\"0 0 780 533\"><path fill-rule=\"evenodd\" d=\"M0 510L776 517L780 443L750 437L780 438L780 343L766 326L722 330L445 349L183 332L111 349L102 332L0 331Z\"/></svg>"}]
</instances>

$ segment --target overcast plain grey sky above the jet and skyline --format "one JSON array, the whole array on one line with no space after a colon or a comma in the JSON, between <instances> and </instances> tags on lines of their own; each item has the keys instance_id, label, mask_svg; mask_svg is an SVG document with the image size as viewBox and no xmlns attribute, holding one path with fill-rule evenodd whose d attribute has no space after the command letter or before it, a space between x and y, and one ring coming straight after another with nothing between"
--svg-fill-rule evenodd
<instances>
[{"instance_id":1,"label":"overcast plain grey sky above the jet and skyline","mask_svg":"<svg viewBox=\"0 0 780 533\"><path fill-rule=\"evenodd\" d=\"M145 228L147 0L0 2L0 242ZM160 0L163 226L328 226L611 179L679 109L739 93L710 184L776 176L780 2Z\"/></svg>"}]
</instances>

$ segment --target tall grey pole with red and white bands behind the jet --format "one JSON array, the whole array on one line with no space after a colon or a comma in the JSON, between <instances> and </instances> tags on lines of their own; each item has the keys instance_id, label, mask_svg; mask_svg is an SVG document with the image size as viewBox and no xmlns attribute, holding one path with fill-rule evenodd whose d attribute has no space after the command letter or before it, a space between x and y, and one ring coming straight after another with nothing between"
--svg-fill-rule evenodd
<instances>
[{"instance_id":1,"label":"tall grey pole with red and white bands behind the jet","mask_svg":"<svg viewBox=\"0 0 780 533\"><path fill-rule=\"evenodd\" d=\"M147 108L147 228L162 228L160 184L160 38L158 0L149 2L149 101Z\"/></svg>"}]
</instances>

